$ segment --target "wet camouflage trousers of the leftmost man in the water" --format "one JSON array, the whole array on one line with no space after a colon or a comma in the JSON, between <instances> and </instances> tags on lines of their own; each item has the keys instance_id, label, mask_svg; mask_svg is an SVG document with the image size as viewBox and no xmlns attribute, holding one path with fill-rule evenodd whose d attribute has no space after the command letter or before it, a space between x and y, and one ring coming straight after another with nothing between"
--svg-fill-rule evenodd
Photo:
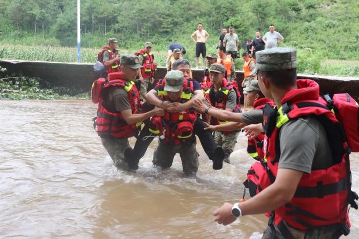
<instances>
[{"instance_id":1,"label":"wet camouflage trousers of the leftmost man in the water","mask_svg":"<svg viewBox=\"0 0 359 239\"><path fill-rule=\"evenodd\" d=\"M130 146L128 139L104 137L101 138L101 142L113 160L113 164L119 169L129 170L124 156L125 149Z\"/></svg>"}]
</instances>

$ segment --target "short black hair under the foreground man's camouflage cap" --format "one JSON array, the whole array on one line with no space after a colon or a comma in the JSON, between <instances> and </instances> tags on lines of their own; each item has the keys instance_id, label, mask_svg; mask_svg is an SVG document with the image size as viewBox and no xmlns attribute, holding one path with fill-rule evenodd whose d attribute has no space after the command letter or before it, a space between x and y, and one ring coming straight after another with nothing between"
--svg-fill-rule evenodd
<instances>
[{"instance_id":1,"label":"short black hair under the foreground man's camouflage cap","mask_svg":"<svg viewBox=\"0 0 359 239\"><path fill-rule=\"evenodd\" d=\"M296 84L296 68L280 71L258 71L261 76L267 77L277 88L287 89Z\"/></svg>"}]
</instances>

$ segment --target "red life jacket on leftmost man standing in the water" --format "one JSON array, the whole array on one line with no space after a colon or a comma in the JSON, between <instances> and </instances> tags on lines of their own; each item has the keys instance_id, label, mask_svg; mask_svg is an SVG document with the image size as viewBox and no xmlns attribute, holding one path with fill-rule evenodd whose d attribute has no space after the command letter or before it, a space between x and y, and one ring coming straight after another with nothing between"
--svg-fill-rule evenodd
<instances>
[{"instance_id":1,"label":"red life jacket on leftmost man standing in the water","mask_svg":"<svg viewBox=\"0 0 359 239\"><path fill-rule=\"evenodd\" d=\"M133 81L127 81L125 75L121 72L110 73L108 75L109 81L104 84L102 93L104 90L113 87L122 87L128 94L128 100L131 105L132 114L136 114L141 107L139 102L139 93L136 85ZM141 126L142 122L137 124L127 124L121 113L113 113L108 111L104 104L103 98L101 97L98 102L96 126L97 134L99 136L112 136L115 138L130 138L135 136L138 127Z\"/></svg>"}]
</instances>

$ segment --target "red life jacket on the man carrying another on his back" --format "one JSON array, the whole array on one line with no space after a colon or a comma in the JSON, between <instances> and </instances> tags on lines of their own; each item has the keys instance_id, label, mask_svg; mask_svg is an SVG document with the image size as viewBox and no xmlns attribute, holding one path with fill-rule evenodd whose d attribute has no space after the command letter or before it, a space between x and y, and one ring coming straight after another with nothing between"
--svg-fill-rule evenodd
<instances>
[{"instance_id":1,"label":"red life jacket on the man carrying another on his back","mask_svg":"<svg viewBox=\"0 0 359 239\"><path fill-rule=\"evenodd\" d=\"M164 90L165 82L166 78L158 81L157 94L162 100L170 100L167 96L167 92ZM193 82L185 78L183 86L182 95L176 102L185 103L191 99ZM197 113L193 108L178 113L165 111L163 117L154 116L151 118L149 131L154 135L161 136L160 139L166 143L181 144L181 142L192 137L196 119Z\"/></svg>"}]
</instances>

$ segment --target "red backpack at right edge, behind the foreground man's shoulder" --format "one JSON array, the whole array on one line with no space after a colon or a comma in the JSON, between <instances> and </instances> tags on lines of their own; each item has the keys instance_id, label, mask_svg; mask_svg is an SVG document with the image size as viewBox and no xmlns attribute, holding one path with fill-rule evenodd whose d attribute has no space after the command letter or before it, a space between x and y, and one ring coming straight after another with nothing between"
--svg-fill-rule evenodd
<instances>
[{"instance_id":1,"label":"red backpack at right edge, behind the foreground man's shoulder","mask_svg":"<svg viewBox=\"0 0 359 239\"><path fill-rule=\"evenodd\" d=\"M334 94L332 98L325 95L328 107L335 113L342 123L349 148L352 152L359 152L359 105L348 94Z\"/></svg>"}]
</instances>

